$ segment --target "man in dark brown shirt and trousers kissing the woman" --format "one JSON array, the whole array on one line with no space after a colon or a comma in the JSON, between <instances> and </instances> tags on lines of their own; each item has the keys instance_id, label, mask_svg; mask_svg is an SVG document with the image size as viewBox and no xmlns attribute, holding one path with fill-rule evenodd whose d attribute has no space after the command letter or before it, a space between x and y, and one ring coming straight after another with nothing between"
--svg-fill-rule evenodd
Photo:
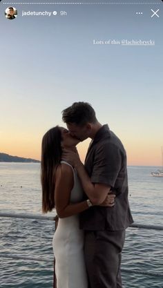
<instances>
[{"instance_id":1,"label":"man in dark brown shirt and trousers kissing the woman","mask_svg":"<svg viewBox=\"0 0 163 288\"><path fill-rule=\"evenodd\" d=\"M90 288L122 288L120 273L121 253L125 229L133 222L128 204L126 152L122 142L108 125L97 121L90 104L76 102L62 111L62 119L73 137L92 139L85 164L79 155L65 151L63 159L70 162L89 192L90 206L80 215L84 229L84 255ZM99 207L108 191L116 194L113 207Z\"/></svg>"}]
</instances>

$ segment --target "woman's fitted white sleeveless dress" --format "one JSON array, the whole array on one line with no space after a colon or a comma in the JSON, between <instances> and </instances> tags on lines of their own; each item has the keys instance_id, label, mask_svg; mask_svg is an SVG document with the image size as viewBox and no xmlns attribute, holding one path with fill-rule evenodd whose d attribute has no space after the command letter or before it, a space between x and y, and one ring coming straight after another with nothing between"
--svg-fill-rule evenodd
<instances>
[{"instance_id":1,"label":"woman's fitted white sleeveless dress","mask_svg":"<svg viewBox=\"0 0 163 288\"><path fill-rule=\"evenodd\" d=\"M68 164L61 161L61 163ZM70 164L68 164L70 166ZM71 166L73 169L73 167ZM70 202L82 201L83 190L73 169L74 186ZM63 191L64 197L64 191ZM57 230L52 241L55 255L55 274L57 288L88 288L84 263L84 232L79 229L79 215L59 218Z\"/></svg>"}]
</instances>

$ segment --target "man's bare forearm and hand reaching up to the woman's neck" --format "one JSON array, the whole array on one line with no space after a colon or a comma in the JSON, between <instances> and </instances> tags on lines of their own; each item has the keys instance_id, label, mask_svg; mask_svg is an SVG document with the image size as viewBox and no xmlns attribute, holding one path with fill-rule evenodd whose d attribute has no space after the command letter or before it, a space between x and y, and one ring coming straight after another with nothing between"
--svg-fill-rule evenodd
<instances>
[{"instance_id":1,"label":"man's bare forearm and hand reaching up to the woman's neck","mask_svg":"<svg viewBox=\"0 0 163 288\"><path fill-rule=\"evenodd\" d=\"M110 192L111 186L100 183L92 183L77 153L64 149L62 159L66 160L68 163L75 167L84 192L86 195L88 195L88 198L93 203L93 205L102 204Z\"/></svg>"}]
</instances>

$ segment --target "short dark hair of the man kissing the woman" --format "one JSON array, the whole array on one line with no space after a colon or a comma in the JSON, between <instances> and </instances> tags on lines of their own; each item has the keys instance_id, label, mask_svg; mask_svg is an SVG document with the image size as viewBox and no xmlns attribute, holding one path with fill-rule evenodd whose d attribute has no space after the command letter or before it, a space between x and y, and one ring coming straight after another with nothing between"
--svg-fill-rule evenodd
<instances>
[{"instance_id":1,"label":"short dark hair of the man kissing the woman","mask_svg":"<svg viewBox=\"0 0 163 288\"><path fill-rule=\"evenodd\" d=\"M65 123L75 123L84 126L86 123L97 122L93 107L87 102L75 102L62 111L62 120Z\"/></svg>"}]
</instances>

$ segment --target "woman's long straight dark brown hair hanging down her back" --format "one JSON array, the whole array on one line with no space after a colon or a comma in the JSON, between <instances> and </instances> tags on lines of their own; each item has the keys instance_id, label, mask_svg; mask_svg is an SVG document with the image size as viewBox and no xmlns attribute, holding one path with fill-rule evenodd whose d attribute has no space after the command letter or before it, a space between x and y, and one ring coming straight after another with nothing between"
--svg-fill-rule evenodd
<instances>
[{"instance_id":1,"label":"woman's long straight dark brown hair hanging down her back","mask_svg":"<svg viewBox=\"0 0 163 288\"><path fill-rule=\"evenodd\" d=\"M61 161L61 129L51 128L42 139L41 186L42 211L47 213L55 207L55 171Z\"/></svg>"}]
</instances>

